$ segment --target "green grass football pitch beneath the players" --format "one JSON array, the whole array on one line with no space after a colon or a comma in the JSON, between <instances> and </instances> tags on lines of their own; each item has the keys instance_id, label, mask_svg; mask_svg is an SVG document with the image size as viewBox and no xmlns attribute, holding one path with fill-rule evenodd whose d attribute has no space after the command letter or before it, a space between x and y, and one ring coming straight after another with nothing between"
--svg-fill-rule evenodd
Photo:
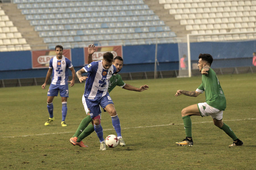
<instances>
[{"instance_id":1,"label":"green grass football pitch beneath the players","mask_svg":"<svg viewBox=\"0 0 256 170\"><path fill-rule=\"evenodd\" d=\"M83 142L88 148L69 143L85 117L84 83L69 87L67 127L61 127L61 98L53 100L55 121L44 123L47 89L41 86L0 88L0 169L255 169L256 74L219 75L227 108L223 121L244 142L229 148L232 139L214 126L212 118L192 116L194 145L177 146L185 137L181 110L205 101L181 95L177 90L196 90L201 76L127 80L148 90L133 92L116 87L110 96L120 118L126 146L100 151L95 132ZM46 88L48 88L46 86ZM116 134L110 116L102 113L104 137Z\"/></svg>"}]
</instances>

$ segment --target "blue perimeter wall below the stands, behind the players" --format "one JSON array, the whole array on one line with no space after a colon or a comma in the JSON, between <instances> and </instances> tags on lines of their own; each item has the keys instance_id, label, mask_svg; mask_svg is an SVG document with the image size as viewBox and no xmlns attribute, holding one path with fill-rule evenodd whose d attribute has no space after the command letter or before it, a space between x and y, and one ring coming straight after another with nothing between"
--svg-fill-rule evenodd
<instances>
[{"instance_id":1,"label":"blue perimeter wall below the stands, behind the players","mask_svg":"<svg viewBox=\"0 0 256 170\"><path fill-rule=\"evenodd\" d=\"M246 48L243 48L245 47ZM191 43L191 61L197 63L200 53L211 54L214 58L212 67L250 66L256 41L242 42L195 42ZM221 47L221 48L220 48ZM121 73L154 71L156 45L123 46L124 67ZM217 49L217 50L216 50ZM72 64L75 71L84 65L84 48L71 49ZM46 69L32 69L31 51L0 52L0 79L45 77ZM183 55L183 54L181 54ZM158 44L158 71L178 70L178 44ZM240 62L237 59L248 60ZM224 60L229 60L229 65ZM236 60L234 60L236 59ZM244 63L244 64L243 64ZM71 75L71 72L70 72Z\"/></svg>"}]
</instances>

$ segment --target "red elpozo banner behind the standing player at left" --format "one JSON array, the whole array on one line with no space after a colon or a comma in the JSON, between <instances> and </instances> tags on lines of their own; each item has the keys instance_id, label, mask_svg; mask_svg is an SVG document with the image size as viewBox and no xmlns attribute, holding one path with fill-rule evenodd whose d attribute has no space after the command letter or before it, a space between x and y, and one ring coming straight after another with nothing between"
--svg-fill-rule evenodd
<instances>
[{"instance_id":1,"label":"red elpozo banner behind the standing player at left","mask_svg":"<svg viewBox=\"0 0 256 170\"><path fill-rule=\"evenodd\" d=\"M55 56L56 56L55 50L32 51L32 68L33 69L49 68L50 59ZM71 50L63 49L62 56L65 56L71 61Z\"/></svg>"}]
</instances>

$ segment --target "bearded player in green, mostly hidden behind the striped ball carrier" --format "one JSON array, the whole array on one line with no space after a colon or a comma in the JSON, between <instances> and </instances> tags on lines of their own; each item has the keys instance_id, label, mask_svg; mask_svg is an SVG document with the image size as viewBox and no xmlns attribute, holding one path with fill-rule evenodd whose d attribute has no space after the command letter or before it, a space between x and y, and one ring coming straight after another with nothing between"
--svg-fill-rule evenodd
<instances>
[{"instance_id":1,"label":"bearded player in green, mostly hidden behind the striped ball carrier","mask_svg":"<svg viewBox=\"0 0 256 170\"><path fill-rule=\"evenodd\" d=\"M94 52L95 52L95 46L94 46L94 44L90 44L88 46L88 63L92 62L92 54ZM120 86L123 89L132 90L132 91L136 91L136 92L143 92L144 90L148 90L147 85L143 85L140 88L137 88L137 87L131 86L130 84L125 84L123 82L122 77L119 74L117 74L123 68L123 59L120 56L117 56L114 58L113 65L116 67L116 72L115 72L115 74L112 75L112 77L109 80L109 87L108 87L109 93L113 90L113 88L115 88L115 86ZM90 117L90 112L89 112L88 108L85 107L85 105L84 105L84 110L87 114L87 117L85 117L81 121L79 127L77 128L77 131L75 132L73 137L71 137L69 139L69 141L72 145L78 145L80 147L88 147L87 145L84 145L82 140L94 131L93 124L90 124L90 122L92 122L92 118ZM90 124L90 125L88 125L88 124ZM125 146L123 138L119 139L119 145Z\"/></svg>"}]
</instances>

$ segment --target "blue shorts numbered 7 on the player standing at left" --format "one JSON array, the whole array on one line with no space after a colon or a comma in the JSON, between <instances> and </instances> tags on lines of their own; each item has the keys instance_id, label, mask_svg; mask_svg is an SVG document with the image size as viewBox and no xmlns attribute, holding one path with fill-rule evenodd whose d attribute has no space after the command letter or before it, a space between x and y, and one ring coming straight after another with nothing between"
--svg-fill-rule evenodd
<instances>
[{"instance_id":1,"label":"blue shorts numbered 7 on the player standing at left","mask_svg":"<svg viewBox=\"0 0 256 170\"><path fill-rule=\"evenodd\" d=\"M65 85L51 84L48 89L47 96L57 96L58 93L61 97L69 97L69 85L68 84L65 84Z\"/></svg>"}]
</instances>

